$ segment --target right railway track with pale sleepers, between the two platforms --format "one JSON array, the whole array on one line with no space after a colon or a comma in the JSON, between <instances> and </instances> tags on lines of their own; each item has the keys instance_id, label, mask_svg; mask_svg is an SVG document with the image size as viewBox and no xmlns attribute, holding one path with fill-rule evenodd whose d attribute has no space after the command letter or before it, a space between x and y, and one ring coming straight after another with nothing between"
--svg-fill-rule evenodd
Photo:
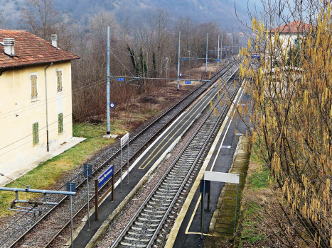
<instances>
[{"instance_id":1,"label":"right railway track with pale sleepers, between the two platforms","mask_svg":"<svg viewBox=\"0 0 332 248\"><path fill-rule=\"evenodd\" d=\"M235 90L230 89L229 84L227 94L230 94L230 102L234 100L238 89L239 86ZM227 94L224 92L221 98ZM218 103L219 101L216 101L214 107L218 107L220 105ZM208 113L196 133L183 147L183 150L137 210L121 235L114 241L112 248L151 247L154 244L154 239L168 218L173 204L183 188L190 184L188 179L191 181L192 174L195 174L203 164L222 123L220 120L225 117L229 108L230 104L221 108L218 117L213 115L213 111Z\"/></svg>"}]
</instances>

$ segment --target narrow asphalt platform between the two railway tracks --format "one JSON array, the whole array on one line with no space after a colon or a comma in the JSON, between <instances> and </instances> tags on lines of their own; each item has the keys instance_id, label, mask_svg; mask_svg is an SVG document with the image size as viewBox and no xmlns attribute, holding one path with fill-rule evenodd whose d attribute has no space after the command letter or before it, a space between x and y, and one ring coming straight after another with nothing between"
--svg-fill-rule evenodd
<instances>
[{"instance_id":1,"label":"narrow asphalt platform between the two railway tracks","mask_svg":"<svg viewBox=\"0 0 332 248\"><path fill-rule=\"evenodd\" d=\"M210 87L203 96L196 100L187 111L181 114L155 141L152 143L141 156L129 167L129 184L127 182L127 172L124 173L122 179L122 191L120 189L120 181L114 185L114 201L110 197L105 198L105 201L99 207L99 220L95 220L95 214L90 215L90 230L87 231L86 218L84 219L75 231L74 244L75 247L86 247L87 244L92 245L92 237L99 235L102 230L102 225L107 225L110 222L109 215L112 213L115 218L117 215L117 208L125 201L129 201L139 186L149 179L149 175L156 169L166 155L172 150L176 143L181 140L181 137L186 130L191 127L196 118L205 108L210 106L210 99L220 90L218 84ZM130 148L129 148L130 149ZM93 210L92 210L93 211ZM90 211L90 213L92 213ZM104 224L103 224L104 223ZM105 227L106 228L106 227ZM107 228L106 228L107 229ZM95 240L95 239L92 239ZM90 243L89 243L90 242ZM93 241L95 242L95 241ZM66 246L68 247L70 241Z\"/></svg>"}]
</instances>

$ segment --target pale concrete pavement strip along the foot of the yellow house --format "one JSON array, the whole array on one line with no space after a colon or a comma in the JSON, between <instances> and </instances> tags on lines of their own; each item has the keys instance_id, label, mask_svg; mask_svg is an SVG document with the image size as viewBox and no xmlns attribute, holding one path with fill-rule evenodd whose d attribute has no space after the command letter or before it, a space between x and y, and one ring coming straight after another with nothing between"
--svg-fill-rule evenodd
<instances>
[{"instance_id":1,"label":"pale concrete pavement strip along the foot of the yellow house","mask_svg":"<svg viewBox=\"0 0 332 248\"><path fill-rule=\"evenodd\" d=\"M28 173L28 171L31 171L31 169L38 167L38 164L41 164L47 161L48 159L52 159L53 157L58 156L59 154L65 152L66 150L77 145L83 140L85 140L85 137L72 137L70 138L70 140L50 150L50 152L45 152L44 154L41 154L40 156L31 159L30 161L27 161L24 169L13 170L9 174L6 174L5 176L0 176L0 187L6 186L11 181L13 181L13 179L16 180L19 177L23 176L24 174Z\"/></svg>"}]
</instances>

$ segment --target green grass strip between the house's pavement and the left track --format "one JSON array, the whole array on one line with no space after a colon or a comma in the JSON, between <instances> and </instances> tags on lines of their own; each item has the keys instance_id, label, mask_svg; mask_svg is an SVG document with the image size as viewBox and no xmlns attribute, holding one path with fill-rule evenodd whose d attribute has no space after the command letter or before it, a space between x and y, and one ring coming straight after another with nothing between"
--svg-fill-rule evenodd
<instances>
[{"instance_id":1,"label":"green grass strip between the house's pavement and the left track","mask_svg":"<svg viewBox=\"0 0 332 248\"><path fill-rule=\"evenodd\" d=\"M124 128L122 120L114 120L111 123L112 134L125 134L129 130ZM92 154L102 147L114 142L112 139L105 139L102 135L106 134L106 122L100 125L90 125L88 123L79 123L73 125L73 136L85 137L86 140L80 142L69 150L59 154L53 159L49 159L38 167L21 176L17 181L24 185L30 185L31 188L46 189L52 188L61 176L68 171L77 168L85 162ZM9 188L24 188L17 182L7 185ZM28 200L38 196L33 193L18 193L20 200ZM15 193L11 191L0 191L0 217L13 215L14 211L8 210L11 201L15 198Z\"/></svg>"}]
</instances>

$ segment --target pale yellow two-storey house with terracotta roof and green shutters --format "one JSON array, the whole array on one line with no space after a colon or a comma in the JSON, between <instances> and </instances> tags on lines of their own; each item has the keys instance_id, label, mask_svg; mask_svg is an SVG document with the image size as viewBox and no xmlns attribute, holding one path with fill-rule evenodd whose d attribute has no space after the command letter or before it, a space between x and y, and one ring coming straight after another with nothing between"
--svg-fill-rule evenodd
<instances>
[{"instance_id":1,"label":"pale yellow two-storey house with terracotta roof and green shutters","mask_svg":"<svg viewBox=\"0 0 332 248\"><path fill-rule=\"evenodd\" d=\"M24 30L0 30L0 173L24 169L73 137L73 53Z\"/></svg>"}]
</instances>

